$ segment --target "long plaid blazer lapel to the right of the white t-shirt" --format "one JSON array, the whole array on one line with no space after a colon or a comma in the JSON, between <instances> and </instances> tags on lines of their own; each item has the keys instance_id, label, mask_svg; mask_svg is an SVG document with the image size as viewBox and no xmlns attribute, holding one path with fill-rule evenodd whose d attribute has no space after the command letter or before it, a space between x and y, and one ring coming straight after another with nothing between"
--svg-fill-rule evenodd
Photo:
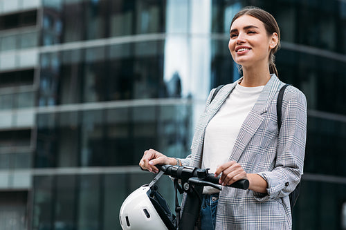
<instances>
[{"instance_id":1,"label":"long plaid blazer lapel to the right of the white t-shirt","mask_svg":"<svg viewBox=\"0 0 346 230\"><path fill-rule=\"evenodd\" d=\"M233 147L230 155L230 160L235 160L235 162L238 162L246 146L248 145L248 142L250 142L251 138L253 135L255 135L255 132L262 124L264 115L267 113L273 97L277 93L280 83L281 82L276 75L272 75L266 86L264 86L260 97L257 99L253 109L250 111L250 113L248 113L248 116L240 128L235 146Z\"/></svg>"}]
</instances>

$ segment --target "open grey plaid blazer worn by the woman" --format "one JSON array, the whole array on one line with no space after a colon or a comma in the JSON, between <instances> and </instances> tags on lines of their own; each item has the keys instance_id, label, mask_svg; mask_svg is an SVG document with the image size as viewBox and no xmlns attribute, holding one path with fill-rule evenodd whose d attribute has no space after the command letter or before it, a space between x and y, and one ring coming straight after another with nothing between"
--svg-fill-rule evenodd
<instances>
[{"instance_id":1,"label":"open grey plaid blazer worn by the woman","mask_svg":"<svg viewBox=\"0 0 346 230\"><path fill-rule=\"evenodd\" d=\"M210 104L215 89L210 92L206 109L197 123L191 154L183 165L200 167L206 126L235 88L221 88ZM307 132L307 102L304 94L288 86L282 102L282 127L277 129L276 101L284 86L271 75L255 106L239 131L229 160L242 165L246 173L257 173L268 182L267 193L224 186L219 196L216 229L291 229L289 193L300 182L303 173ZM230 120L230 122L232 122ZM217 133L215 133L217 135Z\"/></svg>"}]
</instances>

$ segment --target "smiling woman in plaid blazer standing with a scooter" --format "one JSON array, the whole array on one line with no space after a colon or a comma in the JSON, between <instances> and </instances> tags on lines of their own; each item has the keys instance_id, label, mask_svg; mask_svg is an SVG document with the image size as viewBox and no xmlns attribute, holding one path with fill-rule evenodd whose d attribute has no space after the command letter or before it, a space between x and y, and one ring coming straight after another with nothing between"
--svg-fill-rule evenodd
<instances>
[{"instance_id":1,"label":"smiling woman in plaid blazer standing with a scooter","mask_svg":"<svg viewBox=\"0 0 346 230\"><path fill-rule=\"evenodd\" d=\"M233 18L228 48L243 77L221 88L206 102L185 159L145 151L140 166L157 172L155 164L210 168L223 185L247 178L249 189L223 186L203 190L201 229L291 229L289 193L302 175L307 102L288 86L282 102L282 126L277 128L277 78L274 54L280 30L272 15L244 8ZM210 201L212 200L212 201ZM215 221L216 210L216 221Z\"/></svg>"}]
</instances>

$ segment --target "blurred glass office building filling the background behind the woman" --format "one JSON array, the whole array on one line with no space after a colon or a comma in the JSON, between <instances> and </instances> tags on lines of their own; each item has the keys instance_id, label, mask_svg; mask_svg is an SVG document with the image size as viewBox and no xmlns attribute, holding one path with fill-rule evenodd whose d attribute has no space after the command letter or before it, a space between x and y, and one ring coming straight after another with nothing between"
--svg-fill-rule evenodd
<instances>
[{"instance_id":1,"label":"blurred glass office building filling the background behind the woman","mask_svg":"<svg viewBox=\"0 0 346 230\"><path fill-rule=\"evenodd\" d=\"M345 0L0 0L0 229L120 229L143 151L188 155L210 89L239 77L229 28L249 5L277 19L280 79L309 104L293 227L346 229Z\"/></svg>"}]
</instances>

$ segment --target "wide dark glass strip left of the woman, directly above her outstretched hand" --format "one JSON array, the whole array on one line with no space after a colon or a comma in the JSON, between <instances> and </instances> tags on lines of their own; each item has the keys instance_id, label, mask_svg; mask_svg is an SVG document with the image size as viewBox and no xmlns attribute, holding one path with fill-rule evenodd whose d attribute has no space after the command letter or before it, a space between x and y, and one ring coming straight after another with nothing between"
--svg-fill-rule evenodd
<instances>
[{"instance_id":1,"label":"wide dark glass strip left of the woman, directly above her outstretched hand","mask_svg":"<svg viewBox=\"0 0 346 230\"><path fill-rule=\"evenodd\" d=\"M138 106L40 114L35 167L136 165L149 148L185 157L192 106Z\"/></svg>"}]
</instances>

